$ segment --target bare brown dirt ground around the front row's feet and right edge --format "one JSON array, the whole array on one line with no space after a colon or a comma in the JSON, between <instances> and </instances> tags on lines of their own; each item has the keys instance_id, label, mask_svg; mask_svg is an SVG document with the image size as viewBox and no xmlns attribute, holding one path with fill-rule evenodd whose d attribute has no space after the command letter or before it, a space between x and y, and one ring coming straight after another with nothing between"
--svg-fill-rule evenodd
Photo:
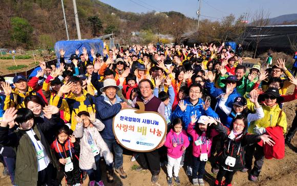
<instances>
[{"instance_id":1,"label":"bare brown dirt ground around the front row's feet and right edge","mask_svg":"<svg viewBox=\"0 0 297 186\"><path fill-rule=\"evenodd\" d=\"M288 94L293 93L293 86L289 87ZM297 101L294 100L289 103L284 104L284 111L287 116L288 129L291 127L292 121L295 117ZM290 149L286 146L285 148L285 157L283 159L265 159L262 172L259 176L258 182L248 181L247 173L237 172L232 181L232 185L297 185L297 135L291 141L293 147ZM102 173L102 180L105 185L151 185L151 173L149 171L136 172L133 169L135 165L138 165L136 161L131 162L131 155L126 153L124 154L124 170L126 171L128 177L126 179L119 178L118 174L115 174L115 182L107 183L105 180L105 172ZM209 162L206 164L206 173L204 176L205 185L213 185L216 175L213 175L210 171L211 167ZM104 170L104 169L102 169ZM11 185L9 176L3 176L3 165L0 165L0 183L3 186ZM181 185L192 185L191 178L188 178L185 174L184 169L181 169L179 172L179 177L181 180ZM65 180L62 181L63 185L66 185ZM88 179L84 181L84 186L88 185ZM155 185L167 185L166 183L166 168L162 167L161 173L159 175L158 184Z\"/></svg>"}]
</instances>

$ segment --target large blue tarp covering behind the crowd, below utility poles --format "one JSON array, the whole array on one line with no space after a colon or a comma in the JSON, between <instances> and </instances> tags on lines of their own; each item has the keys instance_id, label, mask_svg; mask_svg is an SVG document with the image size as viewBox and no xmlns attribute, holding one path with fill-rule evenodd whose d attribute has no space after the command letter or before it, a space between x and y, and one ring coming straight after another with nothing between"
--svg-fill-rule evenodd
<instances>
[{"instance_id":1,"label":"large blue tarp covering behind the crowd, below utility poles","mask_svg":"<svg viewBox=\"0 0 297 186\"><path fill-rule=\"evenodd\" d=\"M82 54L82 48L85 47L88 50L89 57L91 56L91 49L94 49L95 54L99 53L103 56L103 41L101 39L89 39L80 41L58 41L55 43L55 53L60 62L60 49L65 50L65 62L67 62L71 54L75 54L75 50L79 50L79 54ZM70 61L69 61L70 62Z\"/></svg>"}]
</instances>

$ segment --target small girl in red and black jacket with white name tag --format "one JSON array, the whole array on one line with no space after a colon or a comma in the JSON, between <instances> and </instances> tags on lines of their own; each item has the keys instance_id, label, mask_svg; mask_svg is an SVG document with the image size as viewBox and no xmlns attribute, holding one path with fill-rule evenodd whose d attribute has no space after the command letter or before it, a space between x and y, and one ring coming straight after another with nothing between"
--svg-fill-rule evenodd
<instances>
[{"instance_id":1,"label":"small girl in red and black jacket with white name tag","mask_svg":"<svg viewBox=\"0 0 297 186\"><path fill-rule=\"evenodd\" d=\"M80 186L80 170L78 166L79 144L71 135L67 125L61 126L57 131L57 138L51 145L60 162L60 169L66 176L68 185Z\"/></svg>"}]
</instances>

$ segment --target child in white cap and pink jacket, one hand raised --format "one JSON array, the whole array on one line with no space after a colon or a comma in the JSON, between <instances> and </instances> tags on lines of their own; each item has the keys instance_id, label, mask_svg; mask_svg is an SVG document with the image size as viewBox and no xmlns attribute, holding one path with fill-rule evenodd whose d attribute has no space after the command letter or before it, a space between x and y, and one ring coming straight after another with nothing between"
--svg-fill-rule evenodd
<instances>
[{"instance_id":1,"label":"child in white cap and pink jacket, one hand raised","mask_svg":"<svg viewBox=\"0 0 297 186\"><path fill-rule=\"evenodd\" d=\"M193 174L194 185L204 185L203 176L205 173L205 164L210 156L211 144L216 131L211 131L208 125L209 118L201 115L197 121L196 113L191 116L191 122L187 132L193 137ZM197 122L197 125L195 126ZM197 175L198 173L198 175Z\"/></svg>"}]
</instances>

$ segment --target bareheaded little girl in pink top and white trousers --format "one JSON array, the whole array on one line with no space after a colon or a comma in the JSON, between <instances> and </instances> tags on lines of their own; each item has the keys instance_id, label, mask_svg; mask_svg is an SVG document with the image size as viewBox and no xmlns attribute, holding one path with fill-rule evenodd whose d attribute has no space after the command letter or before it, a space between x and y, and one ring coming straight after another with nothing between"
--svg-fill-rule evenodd
<instances>
[{"instance_id":1,"label":"bareheaded little girl in pink top and white trousers","mask_svg":"<svg viewBox=\"0 0 297 186\"><path fill-rule=\"evenodd\" d=\"M172 129L166 135L166 142L164 144L167 147L167 183L172 185L172 168L174 169L174 180L177 184L180 184L178 177L180 161L183 152L189 146L188 136L185 130L182 130L182 121L176 118L172 121Z\"/></svg>"}]
</instances>

